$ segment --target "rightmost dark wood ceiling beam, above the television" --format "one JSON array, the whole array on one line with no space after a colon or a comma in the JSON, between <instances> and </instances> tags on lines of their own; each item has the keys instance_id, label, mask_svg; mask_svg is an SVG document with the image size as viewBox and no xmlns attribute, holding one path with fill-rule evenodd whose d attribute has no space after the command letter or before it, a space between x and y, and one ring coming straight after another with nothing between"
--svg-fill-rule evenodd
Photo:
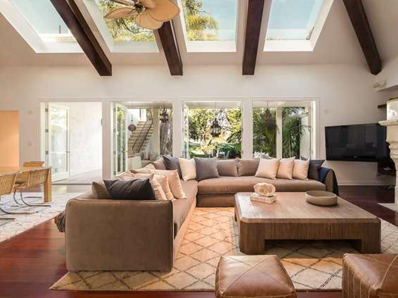
<instances>
[{"instance_id":1,"label":"rightmost dark wood ceiling beam, above the television","mask_svg":"<svg viewBox=\"0 0 398 298\"><path fill-rule=\"evenodd\" d=\"M355 34L361 45L370 72L379 74L382 71L382 60L369 25L362 0L344 0Z\"/></svg>"}]
</instances>

